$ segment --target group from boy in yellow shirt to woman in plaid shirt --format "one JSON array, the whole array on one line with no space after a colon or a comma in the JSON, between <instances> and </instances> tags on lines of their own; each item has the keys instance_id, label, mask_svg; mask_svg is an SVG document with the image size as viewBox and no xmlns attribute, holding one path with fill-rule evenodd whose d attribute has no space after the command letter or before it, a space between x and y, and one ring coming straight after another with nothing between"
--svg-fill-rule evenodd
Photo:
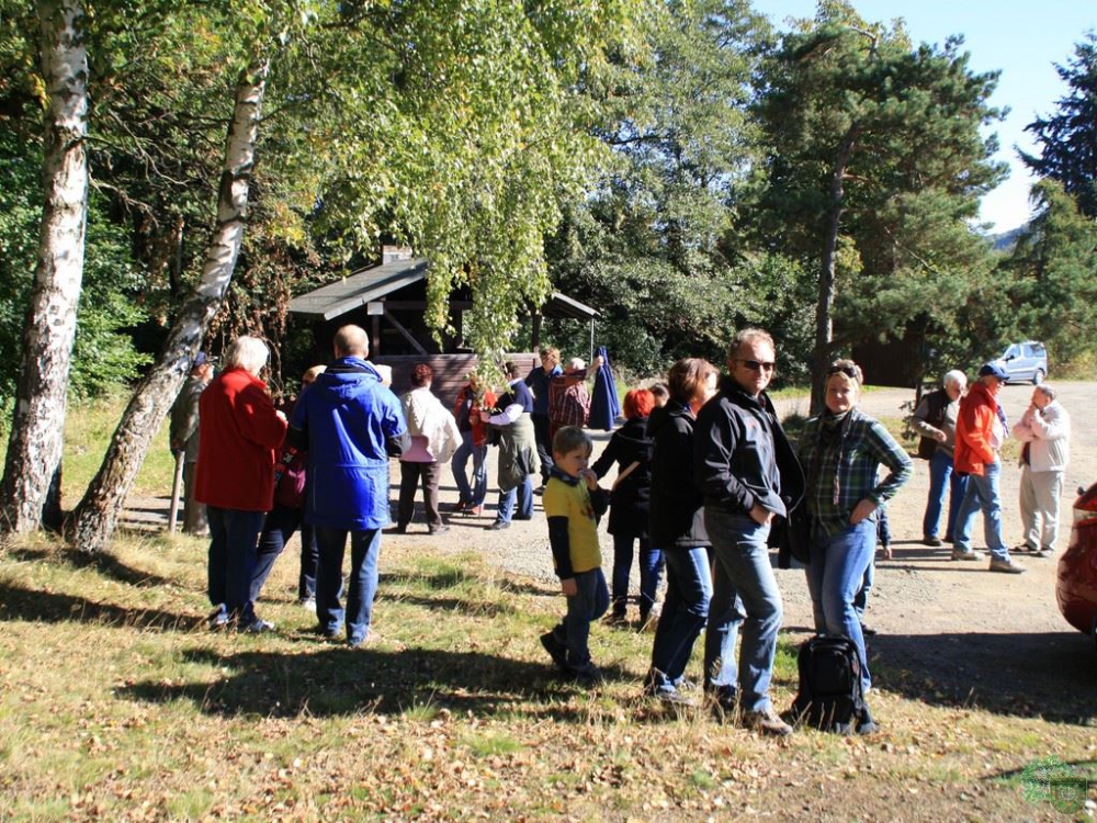
<instances>
[{"instance_id":1,"label":"group from boy in yellow shirt to woman in plaid shirt","mask_svg":"<svg viewBox=\"0 0 1097 823\"><path fill-rule=\"evenodd\" d=\"M769 695L782 621L769 552L792 539L794 522L810 554L816 629L853 641L862 688L869 689L855 601L873 560L882 506L909 478L912 462L886 429L858 408L863 376L848 360L827 370L826 407L807 422L799 448L793 446L766 394L774 368L770 335L744 329L732 342L723 377L712 363L689 358L670 368L664 406L630 392L626 422L593 467L587 466L591 447L581 430L556 435L544 508L568 608L541 642L563 670L580 681L597 680L589 623L611 605L611 620L623 613L618 579L626 585L638 534L635 528L614 529L613 508L620 505L632 523L646 522L640 542L642 612L654 601L660 559L667 576L646 694L670 703L695 702L697 686L686 669L703 632L705 699L724 719L760 733L792 732ZM597 481L613 461L618 483L606 493ZM632 478L646 484L646 492L631 487ZM607 504L617 555L612 597L595 532ZM638 504L646 518L636 514ZM856 726L862 733L878 728L868 706Z\"/></svg>"}]
</instances>

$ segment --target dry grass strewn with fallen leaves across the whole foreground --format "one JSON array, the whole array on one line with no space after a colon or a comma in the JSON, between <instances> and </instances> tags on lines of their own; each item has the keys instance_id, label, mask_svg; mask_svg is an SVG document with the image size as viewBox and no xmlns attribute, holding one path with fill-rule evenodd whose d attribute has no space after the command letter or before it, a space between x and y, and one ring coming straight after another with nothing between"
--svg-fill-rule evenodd
<instances>
[{"instance_id":1,"label":"dry grass strewn with fallen leaves across the whole foreground","mask_svg":"<svg viewBox=\"0 0 1097 823\"><path fill-rule=\"evenodd\" d=\"M1021 769L1097 758L1092 725L885 689L881 734L764 740L643 699L652 635L604 627L584 691L538 643L554 588L415 541L383 550L375 646L312 633L292 552L260 605L279 632L214 633L204 560L183 537L0 554L0 820L1062 820Z\"/></svg>"}]
</instances>

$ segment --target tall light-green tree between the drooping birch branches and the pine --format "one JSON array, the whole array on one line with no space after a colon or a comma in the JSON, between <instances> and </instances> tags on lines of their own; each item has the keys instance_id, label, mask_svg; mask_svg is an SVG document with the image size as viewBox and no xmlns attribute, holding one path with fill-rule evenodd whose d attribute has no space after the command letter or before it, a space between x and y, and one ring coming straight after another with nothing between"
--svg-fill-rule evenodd
<instances>
[{"instance_id":1,"label":"tall light-green tree between the drooping birch branches and the pine","mask_svg":"<svg viewBox=\"0 0 1097 823\"><path fill-rule=\"evenodd\" d=\"M756 151L745 114L768 26L736 0L669 2L644 23L642 59L619 53L586 78L613 157L550 257L554 282L602 312L614 362L649 374L686 354L721 360L751 316L753 267L724 238Z\"/></svg>"}]
</instances>

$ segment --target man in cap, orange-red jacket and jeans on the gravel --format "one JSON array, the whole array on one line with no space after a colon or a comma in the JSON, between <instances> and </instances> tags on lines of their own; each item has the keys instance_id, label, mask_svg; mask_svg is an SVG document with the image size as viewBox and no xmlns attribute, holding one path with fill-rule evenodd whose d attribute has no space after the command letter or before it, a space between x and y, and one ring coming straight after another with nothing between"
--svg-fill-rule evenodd
<instances>
[{"instance_id":1,"label":"man in cap, orange-red jacket and jeans on the gravel","mask_svg":"<svg viewBox=\"0 0 1097 823\"><path fill-rule=\"evenodd\" d=\"M1002 460L998 449L1006 431L998 415L998 393L1006 376L1000 365L986 363L979 370L979 380L971 391L960 401L955 471L968 475L968 488L957 515L952 560L980 559L979 552L971 546L971 530L975 514L982 509L991 571L1020 574L1025 567L1010 560L1009 549L1002 539L1002 494L998 488Z\"/></svg>"}]
</instances>

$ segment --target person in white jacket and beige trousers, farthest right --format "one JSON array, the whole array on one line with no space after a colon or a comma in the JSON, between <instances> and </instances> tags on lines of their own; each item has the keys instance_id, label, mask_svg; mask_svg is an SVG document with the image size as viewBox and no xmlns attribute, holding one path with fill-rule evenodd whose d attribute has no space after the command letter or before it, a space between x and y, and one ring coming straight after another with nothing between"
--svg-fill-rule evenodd
<instances>
[{"instance_id":1,"label":"person in white jacket and beige trousers, farthest right","mask_svg":"<svg viewBox=\"0 0 1097 823\"><path fill-rule=\"evenodd\" d=\"M1021 447L1021 525L1025 543L1016 551L1050 557L1059 537L1059 497L1071 458L1071 416L1047 383L1032 390L1032 402L1014 426Z\"/></svg>"}]
</instances>

